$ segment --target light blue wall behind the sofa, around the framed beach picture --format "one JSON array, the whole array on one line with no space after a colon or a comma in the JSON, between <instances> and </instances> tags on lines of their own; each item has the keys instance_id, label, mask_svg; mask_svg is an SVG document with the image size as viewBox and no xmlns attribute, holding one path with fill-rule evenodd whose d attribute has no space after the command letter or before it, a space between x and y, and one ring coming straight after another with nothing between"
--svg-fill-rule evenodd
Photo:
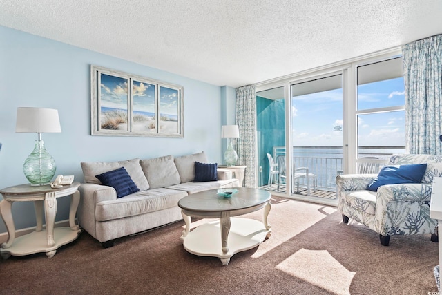
<instances>
[{"instance_id":1,"label":"light blue wall behind the sofa, around the framed beach picture","mask_svg":"<svg viewBox=\"0 0 442 295\"><path fill-rule=\"evenodd\" d=\"M128 44L131 46L131 44ZM154 46L154 45L153 45ZM184 138L90 135L90 64L184 86ZM234 92L234 89L233 89ZM221 125L231 115L232 88L214 86L0 26L0 187L26 183L23 162L35 133L15 133L17 107L57 108L62 133L43 135L56 174L83 181L80 162L153 158L205 151L222 162ZM224 118L224 119L223 119ZM68 219L69 198L56 220ZM12 206L17 229L35 226L32 202ZM0 222L0 233L6 227Z\"/></svg>"}]
</instances>

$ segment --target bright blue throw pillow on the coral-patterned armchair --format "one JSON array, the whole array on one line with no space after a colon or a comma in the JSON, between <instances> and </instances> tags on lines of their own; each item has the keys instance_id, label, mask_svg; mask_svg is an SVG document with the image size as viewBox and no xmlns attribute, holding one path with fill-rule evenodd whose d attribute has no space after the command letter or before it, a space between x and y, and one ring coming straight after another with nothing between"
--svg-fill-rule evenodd
<instances>
[{"instance_id":1,"label":"bright blue throw pillow on the coral-patterned armchair","mask_svg":"<svg viewBox=\"0 0 442 295\"><path fill-rule=\"evenodd\" d=\"M385 166L367 189L378 191L378 188L385 184L419 183L426 169L427 164Z\"/></svg>"}]
</instances>

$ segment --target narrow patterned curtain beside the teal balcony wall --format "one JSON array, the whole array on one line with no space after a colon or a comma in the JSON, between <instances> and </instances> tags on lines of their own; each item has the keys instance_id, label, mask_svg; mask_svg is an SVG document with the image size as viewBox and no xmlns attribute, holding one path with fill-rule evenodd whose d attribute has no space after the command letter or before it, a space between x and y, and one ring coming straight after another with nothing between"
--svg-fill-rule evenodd
<instances>
[{"instance_id":1,"label":"narrow patterned curtain beside the teal balcony wall","mask_svg":"<svg viewBox=\"0 0 442 295\"><path fill-rule=\"evenodd\" d=\"M238 165L247 166L245 187L255 187L256 160L256 91L254 85L236 88L236 124L240 129L237 142Z\"/></svg>"}]
</instances>

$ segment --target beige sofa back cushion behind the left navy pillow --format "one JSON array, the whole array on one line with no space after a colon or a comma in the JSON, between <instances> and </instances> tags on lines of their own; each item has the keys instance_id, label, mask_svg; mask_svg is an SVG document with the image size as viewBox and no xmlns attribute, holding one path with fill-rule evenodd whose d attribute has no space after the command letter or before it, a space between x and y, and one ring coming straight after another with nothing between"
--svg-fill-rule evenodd
<instances>
[{"instance_id":1,"label":"beige sofa back cushion behind the left navy pillow","mask_svg":"<svg viewBox=\"0 0 442 295\"><path fill-rule=\"evenodd\" d=\"M95 175L115 170L120 167L126 169L127 173L129 173L131 179L140 191L149 189L149 184L141 169L139 158L119 162L81 162L84 182L86 183L102 184Z\"/></svg>"}]
</instances>

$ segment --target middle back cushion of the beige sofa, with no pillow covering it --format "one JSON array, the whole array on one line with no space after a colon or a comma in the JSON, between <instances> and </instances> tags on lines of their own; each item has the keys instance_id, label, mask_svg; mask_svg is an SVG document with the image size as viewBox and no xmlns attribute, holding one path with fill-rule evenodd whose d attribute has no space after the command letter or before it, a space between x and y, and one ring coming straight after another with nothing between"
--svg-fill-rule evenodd
<instances>
[{"instance_id":1,"label":"middle back cushion of the beige sofa, with no pillow covering it","mask_svg":"<svg viewBox=\"0 0 442 295\"><path fill-rule=\"evenodd\" d=\"M173 155L141 160L140 164L151 189L168 187L181 182L180 174L173 162Z\"/></svg>"}]
</instances>

